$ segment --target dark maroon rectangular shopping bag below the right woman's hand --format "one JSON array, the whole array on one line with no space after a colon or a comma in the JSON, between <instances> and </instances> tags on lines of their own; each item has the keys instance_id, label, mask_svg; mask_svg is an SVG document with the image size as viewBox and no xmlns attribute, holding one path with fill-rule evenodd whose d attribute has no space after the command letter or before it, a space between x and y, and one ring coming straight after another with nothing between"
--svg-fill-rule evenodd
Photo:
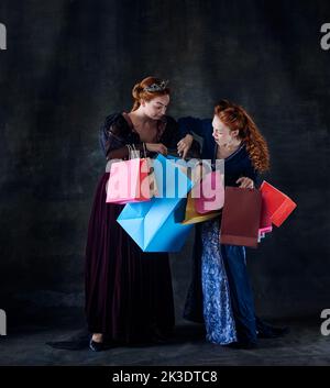
<instances>
[{"instance_id":1,"label":"dark maroon rectangular shopping bag below the right woman's hand","mask_svg":"<svg viewBox=\"0 0 330 388\"><path fill-rule=\"evenodd\" d=\"M256 189L227 187L222 209L220 243L256 247L262 196Z\"/></svg>"}]
</instances>

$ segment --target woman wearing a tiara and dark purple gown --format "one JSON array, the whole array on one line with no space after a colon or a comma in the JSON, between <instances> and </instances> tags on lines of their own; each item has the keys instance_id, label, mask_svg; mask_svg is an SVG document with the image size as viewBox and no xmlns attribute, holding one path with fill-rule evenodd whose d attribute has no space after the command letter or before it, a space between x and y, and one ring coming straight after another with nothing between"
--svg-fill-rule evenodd
<instances>
[{"instance_id":1,"label":"woman wearing a tiara and dark purple gown","mask_svg":"<svg viewBox=\"0 0 330 388\"><path fill-rule=\"evenodd\" d=\"M108 163L128 159L128 145L146 149L152 157L166 155L180 140L176 121L165 115L166 81L147 77L132 93L132 111L108 115L100 130ZM178 152L185 156L187 151L182 142ZM92 351L114 343L165 341L175 319L168 254L142 252L117 222L123 206L106 203L108 170L96 189L86 247L86 315Z\"/></svg>"}]
</instances>

